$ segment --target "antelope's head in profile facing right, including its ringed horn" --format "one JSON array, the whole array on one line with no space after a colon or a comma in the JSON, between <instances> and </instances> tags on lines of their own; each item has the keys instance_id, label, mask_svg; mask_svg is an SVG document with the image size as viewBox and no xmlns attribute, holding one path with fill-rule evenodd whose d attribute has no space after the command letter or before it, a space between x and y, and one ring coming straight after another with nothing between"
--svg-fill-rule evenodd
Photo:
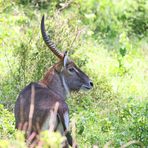
<instances>
[{"instance_id":1,"label":"antelope's head in profile facing right, including its ringed horn","mask_svg":"<svg viewBox=\"0 0 148 148\"><path fill-rule=\"evenodd\" d=\"M41 21L41 32L46 45L60 59L60 61L54 65L54 69L57 72L57 75L60 77L62 86L64 86L66 93L71 91L90 90L93 87L93 82L68 57L67 52L63 54L57 49L55 44L47 35L44 26L44 16L42 17ZM48 79L48 72L45 77Z\"/></svg>"}]
</instances>

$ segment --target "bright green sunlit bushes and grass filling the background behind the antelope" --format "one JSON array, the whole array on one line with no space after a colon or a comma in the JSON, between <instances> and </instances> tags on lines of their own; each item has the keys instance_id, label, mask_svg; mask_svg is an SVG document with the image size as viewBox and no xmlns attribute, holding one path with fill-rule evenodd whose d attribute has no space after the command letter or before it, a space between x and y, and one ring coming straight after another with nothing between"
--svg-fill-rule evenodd
<instances>
[{"instance_id":1,"label":"bright green sunlit bushes and grass filling the background behind the antelope","mask_svg":"<svg viewBox=\"0 0 148 148\"><path fill-rule=\"evenodd\" d=\"M43 14L52 40L94 82L67 100L79 146L148 146L148 1L0 0L0 147L25 147L16 97L57 61L40 34Z\"/></svg>"}]
</instances>

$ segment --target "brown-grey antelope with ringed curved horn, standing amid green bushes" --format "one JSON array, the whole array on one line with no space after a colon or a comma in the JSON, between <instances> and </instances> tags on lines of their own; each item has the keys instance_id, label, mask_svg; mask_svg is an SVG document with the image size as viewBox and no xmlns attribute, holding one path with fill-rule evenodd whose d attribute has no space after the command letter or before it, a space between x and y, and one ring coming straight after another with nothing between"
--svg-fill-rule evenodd
<instances>
[{"instance_id":1,"label":"brown-grey antelope with ringed curved horn, standing amid green bushes","mask_svg":"<svg viewBox=\"0 0 148 148\"><path fill-rule=\"evenodd\" d=\"M62 135L66 133L67 145L72 146L74 141L69 132L69 108L65 100L73 91L90 90L93 82L68 57L67 52L60 52L51 41L45 31L44 15L41 20L41 34L45 44L59 58L59 62L46 72L42 80L31 82L20 92L15 103L15 127L19 129L19 123L29 122L33 86L34 111L31 132L39 133L39 131L50 128L51 110L58 102L54 131L59 131Z\"/></svg>"}]
</instances>

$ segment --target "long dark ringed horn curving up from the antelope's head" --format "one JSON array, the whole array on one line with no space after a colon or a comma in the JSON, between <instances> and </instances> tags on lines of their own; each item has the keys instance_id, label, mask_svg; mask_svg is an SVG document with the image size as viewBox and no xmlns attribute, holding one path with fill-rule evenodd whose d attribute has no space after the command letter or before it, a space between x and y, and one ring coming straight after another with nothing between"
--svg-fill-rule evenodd
<instances>
[{"instance_id":1,"label":"long dark ringed horn curving up from the antelope's head","mask_svg":"<svg viewBox=\"0 0 148 148\"><path fill-rule=\"evenodd\" d=\"M50 48L50 50L60 59L63 59L64 55L56 48L56 45L50 40L48 35L46 34L45 31L45 25L44 25L44 15L42 17L41 21L41 32L42 32L42 37L46 45Z\"/></svg>"}]
</instances>

